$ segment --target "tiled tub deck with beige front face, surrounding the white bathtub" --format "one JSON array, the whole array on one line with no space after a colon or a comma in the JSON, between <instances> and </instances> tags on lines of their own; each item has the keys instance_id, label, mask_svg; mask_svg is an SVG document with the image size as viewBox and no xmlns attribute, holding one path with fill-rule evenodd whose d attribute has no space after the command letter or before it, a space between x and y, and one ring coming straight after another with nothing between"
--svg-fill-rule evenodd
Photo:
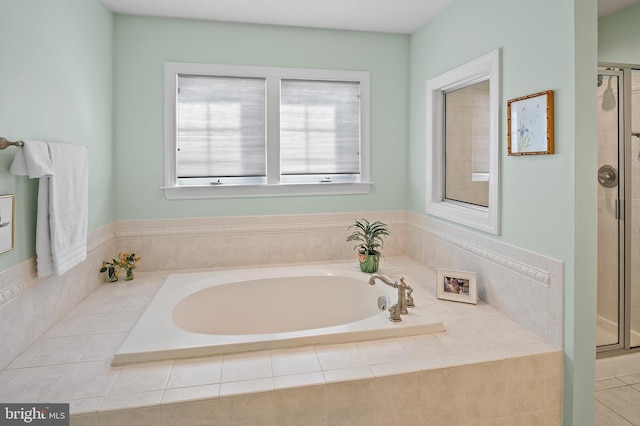
<instances>
[{"instance_id":1,"label":"tiled tub deck with beige front face, surrounding the white bathtub","mask_svg":"<svg viewBox=\"0 0 640 426\"><path fill-rule=\"evenodd\" d=\"M385 268L427 287L416 303L446 332L112 367L168 275L139 272L100 285L1 371L0 401L70 402L74 425L561 424L560 350L485 303L435 299L435 272L409 258Z\"/></svg>"}]
</instances>

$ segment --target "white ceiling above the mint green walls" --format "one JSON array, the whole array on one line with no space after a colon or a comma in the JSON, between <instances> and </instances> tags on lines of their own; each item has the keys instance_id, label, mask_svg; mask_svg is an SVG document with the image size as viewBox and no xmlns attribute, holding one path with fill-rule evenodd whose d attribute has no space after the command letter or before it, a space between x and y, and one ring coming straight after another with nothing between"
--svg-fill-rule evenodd
<instances>
[{"instance_id":1,"label":"white ceiling above the mint green walls","mask_svg":"<svg viewBox=\"0 0 640 426\"><path fill-rule=\"evenodd\" d=\"M102 0L116 13L410 34L455 0ZM640 0L598 0L605 16Z\"/></svg>"}]
</instances>

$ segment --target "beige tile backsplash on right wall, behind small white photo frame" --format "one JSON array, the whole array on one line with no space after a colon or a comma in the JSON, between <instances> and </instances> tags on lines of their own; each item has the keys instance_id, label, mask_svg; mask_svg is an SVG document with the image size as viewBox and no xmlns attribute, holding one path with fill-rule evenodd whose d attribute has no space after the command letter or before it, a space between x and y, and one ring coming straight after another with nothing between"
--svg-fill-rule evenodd
<instances>
[{"instance_id":1,"label":"beige tile backsplash on right wall, behind small white photo frame","mask_svg":"<svg viewBox=\"0 0 640 426\"><path fill-rule=\"evenodd\" d=\"M479 298L562 348L562 262L411 212L405 232L413 259L434 270L477 272Z\"/></svg>"}]
</instances>

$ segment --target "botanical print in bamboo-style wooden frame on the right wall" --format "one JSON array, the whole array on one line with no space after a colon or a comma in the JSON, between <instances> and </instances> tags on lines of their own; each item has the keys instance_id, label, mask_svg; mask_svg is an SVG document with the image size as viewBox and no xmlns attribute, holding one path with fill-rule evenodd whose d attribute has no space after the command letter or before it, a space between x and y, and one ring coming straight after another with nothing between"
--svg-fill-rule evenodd
<instances>
[{"instance_id":1,"label":"botanical print in bamboo-style wooden frame on the right wall","mask_svg":"<svg viewBox=\"0 0 640 426\"><path fill-rule=\"evenodd\" d=\"M553 90L507 102L509 155L553 154Z\"/></svg>"}]
</instances>

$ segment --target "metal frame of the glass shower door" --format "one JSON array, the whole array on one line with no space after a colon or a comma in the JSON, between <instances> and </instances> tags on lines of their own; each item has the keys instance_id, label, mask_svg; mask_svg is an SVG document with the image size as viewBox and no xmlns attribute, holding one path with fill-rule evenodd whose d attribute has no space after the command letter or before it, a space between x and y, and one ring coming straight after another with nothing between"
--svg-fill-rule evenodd
<instances>
[{"instance_id":1,"label":"metal frame of the glass shower door","mask_svg":"<svg viewBox=\"0 0 640 426\"><path fill-rule=\"evenodd\" d=\"M618 343L596 346L596 358L640 351L631 347L631 71L638 65L601 63L598 76L618 76ZM628 89L627 89L628 88Z\"/></svg>"}]
</instances>

